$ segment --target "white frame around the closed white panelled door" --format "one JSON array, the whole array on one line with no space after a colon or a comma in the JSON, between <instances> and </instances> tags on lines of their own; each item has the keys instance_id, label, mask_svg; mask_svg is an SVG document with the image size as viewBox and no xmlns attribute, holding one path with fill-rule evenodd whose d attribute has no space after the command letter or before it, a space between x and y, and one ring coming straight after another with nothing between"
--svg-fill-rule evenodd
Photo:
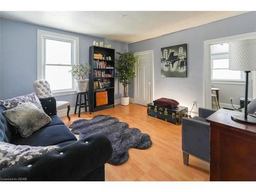
<instances>
[{"instance_id":1,"label":"white frame around the closed white panelled door","mask_svg":"<svg viewBox=\"0 0 256 192\"><path fill-rule=\"evenodd\" d=\"M151 102L154 100L154 50L148 50L148 51L140 51L140 52L135 52L135 55L143 55L143 54L151 54ZM136 75L137 75L137 68L135 68L135 75L133 77L133 87L134 87L134 102L137 103L136 97L137 97L137 92L136 92Z\"/></svg>"}]
</instances>

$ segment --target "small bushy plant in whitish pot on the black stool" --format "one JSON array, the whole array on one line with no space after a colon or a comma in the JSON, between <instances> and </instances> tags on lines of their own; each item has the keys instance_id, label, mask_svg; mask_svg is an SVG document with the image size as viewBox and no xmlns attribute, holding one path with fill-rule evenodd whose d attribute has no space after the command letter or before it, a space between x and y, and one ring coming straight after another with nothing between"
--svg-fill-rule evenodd
<instances>
[{"instance_id":1,"label":"small bushy plant in whitish pot on the black stool","mask_svg":"<svg viewBox=\"0 0 256 192\"><path fill-rule=\"evenodd\" d=\"M75 78L76 87L78 92L87 91L89 79L84 79L84 76L89 75L91 72L91 66L88 63L82 65L81 63L75 64L73 70L70 71Z\"/></svg>"}]
</instances>

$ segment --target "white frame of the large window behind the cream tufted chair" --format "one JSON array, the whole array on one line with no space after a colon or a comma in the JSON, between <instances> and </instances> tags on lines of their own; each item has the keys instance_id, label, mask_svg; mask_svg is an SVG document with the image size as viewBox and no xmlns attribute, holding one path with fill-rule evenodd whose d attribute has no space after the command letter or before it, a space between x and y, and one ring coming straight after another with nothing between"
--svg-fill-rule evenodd
<instances>
[{"instance_id":1,"label":"white frame of the large window behind the cream tufted chair","mask_svg":"<svg viewBox=\"0 0 256 192\"><path fill-rule=\"evenodd\" d=\"M45 42L46 39L71 42L72 44L72 65L79 63L79 37L55 33L45 30L37 30L37 79L45 79ZM67 66L67 65L51 65ZM73 69L73 66L72 66ZM75 82L72 78L72 89L53 91L54 96L75 94Z\"/></svg>"}]
</instances>

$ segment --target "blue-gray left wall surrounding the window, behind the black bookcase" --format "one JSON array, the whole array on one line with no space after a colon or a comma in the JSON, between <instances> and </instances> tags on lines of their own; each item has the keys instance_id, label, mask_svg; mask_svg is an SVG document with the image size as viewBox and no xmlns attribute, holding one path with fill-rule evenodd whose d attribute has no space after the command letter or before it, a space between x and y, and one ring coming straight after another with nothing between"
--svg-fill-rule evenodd
<instances>
[{"instance_id":1,"label":"blue-gray left wall surrounding the window, behind the black bookcase","mask_svg":"<svg viewBox=\"0 0 256 192\"><path fill-rule=\"evenodd\" d=\"M1 18L1 74L0 98L7 99L33 92L32 83L37 79L37 29L79 37L80 62L89 62L89 47L94 40L111 44L116 51L127 51L127 44L98 37L77 34L53 28L16 22ZM115 98L121 96L116 81ZM70 101L75 105L75 95L59 96L58 100Z\"/></svg>"}]
</instances>

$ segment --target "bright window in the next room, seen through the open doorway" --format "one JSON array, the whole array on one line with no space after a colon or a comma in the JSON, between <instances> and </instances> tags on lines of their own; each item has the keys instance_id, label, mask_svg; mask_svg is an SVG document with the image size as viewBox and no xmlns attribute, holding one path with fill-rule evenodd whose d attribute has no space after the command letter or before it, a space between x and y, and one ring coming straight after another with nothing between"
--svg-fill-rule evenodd
<instances>
[{"instance_id":1,"label":"bright window in the next room, seen through the open doorway","mask_svg":"<svg viewBox=\"0 0 256 192\"><path fill-rule=\"evenodd\" d=\"M244 81L243 71L228 69L228 54L211 55L211 80L213 81Z\"/></svg>"}]
</instances>

